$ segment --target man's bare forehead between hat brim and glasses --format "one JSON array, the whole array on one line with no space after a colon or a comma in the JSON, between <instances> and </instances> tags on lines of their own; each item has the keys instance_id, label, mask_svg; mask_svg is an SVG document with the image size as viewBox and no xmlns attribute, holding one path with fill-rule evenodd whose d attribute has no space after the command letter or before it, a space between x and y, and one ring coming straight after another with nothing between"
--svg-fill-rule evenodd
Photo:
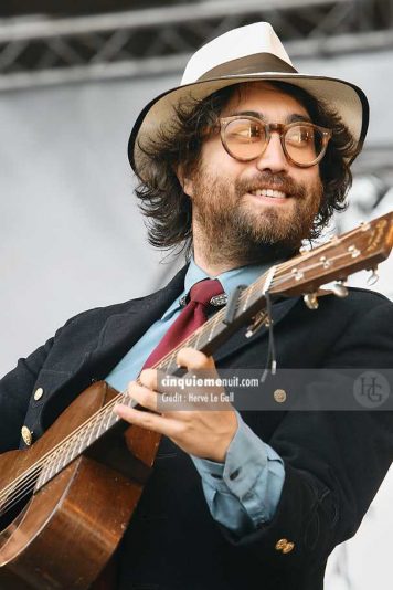
<instances>
[{"instance_id":1,"label":"man's bare forehead between hat brim and glasses","mask_svg":"<svg viewBox=\"0 0 393 590\"><path fill-rule=\"evenodd\" d=\"M268 82L237 84L222 115L229 116L245 110L279 117L293 114L308 116L306 107L295 96Z\"/></svg>"}]
</instances>

